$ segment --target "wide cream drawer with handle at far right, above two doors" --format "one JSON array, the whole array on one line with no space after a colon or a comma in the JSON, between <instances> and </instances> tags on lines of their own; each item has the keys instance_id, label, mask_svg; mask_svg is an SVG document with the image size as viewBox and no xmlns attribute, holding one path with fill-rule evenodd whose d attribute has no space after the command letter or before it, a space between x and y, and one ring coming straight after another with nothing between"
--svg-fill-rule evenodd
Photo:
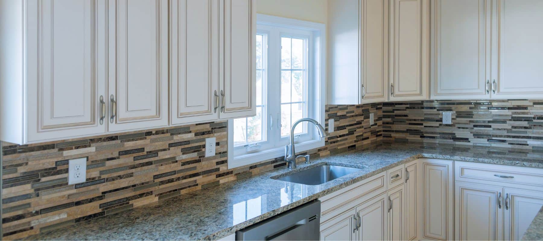
<instances>
[{"instance_id":1,"label":"wide cream drawer with handle at far right, above two doors","mask_svg":"<svg viewBox=\"0 0 543 241\"><path fill-rule=\"evenodd\" d=\"M456 181L497 181L504 186L520 184L543 187L543 169L539 168L455 162L454 177Z\"/></svg>"}]
</instances>

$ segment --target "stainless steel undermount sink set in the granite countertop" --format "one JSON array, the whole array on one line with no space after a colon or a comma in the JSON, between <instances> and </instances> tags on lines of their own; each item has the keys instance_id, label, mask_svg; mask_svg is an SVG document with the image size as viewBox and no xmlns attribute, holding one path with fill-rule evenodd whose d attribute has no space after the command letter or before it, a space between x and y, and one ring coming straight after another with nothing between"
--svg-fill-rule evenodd
<instances>
[{"instance_id":1,"label":"stainless steel undermount sink set in the granite countertop","mask_svg":"<svg viewBox=\"0 0 543 241\"><path fill-rule=\"evenodd\" d=\"M281 178L278 178L277 180L295 182L305 185L320 185L325 182L337 179L338 177L358 172L359 170L362 169L335 165L323 165L303 170L299 173L293 173L288 176L283 176Z\"/></svg>"}]
</instances>

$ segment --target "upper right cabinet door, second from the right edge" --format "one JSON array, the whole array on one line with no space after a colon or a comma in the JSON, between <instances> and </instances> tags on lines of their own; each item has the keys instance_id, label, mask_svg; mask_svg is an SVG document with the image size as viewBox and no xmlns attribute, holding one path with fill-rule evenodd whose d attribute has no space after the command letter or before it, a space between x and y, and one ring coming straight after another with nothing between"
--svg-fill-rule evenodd
<instances>
[{"instance_id":1,"label":"upper right cabinet door, second from the right edge","mask_svg":"<svg viewBox=\"0 0 543 241\"><path fill-rule=\"evenodd\" d=\"M432 99L490 98L491 1L433 3Z\"/></svg>"}]
</instances>

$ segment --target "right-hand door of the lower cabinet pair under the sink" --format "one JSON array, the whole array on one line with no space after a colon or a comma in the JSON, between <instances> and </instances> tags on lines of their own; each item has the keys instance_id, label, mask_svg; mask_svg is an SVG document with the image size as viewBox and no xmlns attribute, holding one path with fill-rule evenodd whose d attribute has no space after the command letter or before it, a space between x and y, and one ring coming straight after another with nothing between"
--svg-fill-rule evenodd
<instances>
[{"instance_id":1,"label":"right-hand door of the lower cabinet pair under the sink","mask_svg":"<svg viewBox=\"0 0 543 241\"><path fill-rule=\"evenodd\" d=\"M387 239L387 197L383 193L356 207L360 225L356 240Z\"/></svg>"}]
</instances>

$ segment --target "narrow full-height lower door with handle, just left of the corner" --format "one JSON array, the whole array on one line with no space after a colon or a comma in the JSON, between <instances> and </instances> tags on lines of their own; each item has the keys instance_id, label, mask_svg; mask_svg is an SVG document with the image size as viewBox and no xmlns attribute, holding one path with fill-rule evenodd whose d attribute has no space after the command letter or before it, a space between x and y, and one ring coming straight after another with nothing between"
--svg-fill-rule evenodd
<instances>
[{"instance_id":1,"label":"narrow full-height lower door with handle, just left of the corner","mask_svg":"<svg viewBox=\"0 0 543 241\"><path fill-rule=\"evenodd\" d=\"M418 182L416 173L418 171L419 162L412 161L406 164L405 168L405 240L415 240L417 232L417 216L418 216Z\"/></svg>"}]
</instances>

